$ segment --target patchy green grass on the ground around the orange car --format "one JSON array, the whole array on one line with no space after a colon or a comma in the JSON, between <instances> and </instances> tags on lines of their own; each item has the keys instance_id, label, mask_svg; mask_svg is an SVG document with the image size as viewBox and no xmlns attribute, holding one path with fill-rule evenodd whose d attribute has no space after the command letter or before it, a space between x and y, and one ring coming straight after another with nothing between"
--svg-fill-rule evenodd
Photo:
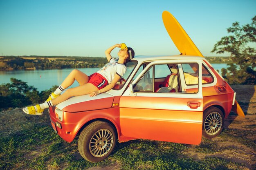
<instances>
[{"instance_id":1,"label":"patchy green grass on the ground around the orange car","mask_svg":"<svg viewBox=\"0 0 256 170\"><path fill-rule=\"evenodd\" d=\"M117 165L120 170L236 170L245 165L221 157L206 156L193 159L184 154L190 148L198 154L218 152L214 140L203 139L198 146L163 141L134 140L117 143L110 157L99 163L83 159L77 149L78 137L67 143L49 124L45 111L41 117L23 115L21 109L0 113L0 169L1 170L85 170L90 167ZM11 115L12 114L12 115ZM13 115L16 116L13 118ZM20 121L18 121L20 119ZM12 128L13 127L13 128ZM9 130L8 130L9 129ZM234 139L255 149L249 138L255 132L241 133L225 129L220 137Z\"/></svg>"}]
</instances>

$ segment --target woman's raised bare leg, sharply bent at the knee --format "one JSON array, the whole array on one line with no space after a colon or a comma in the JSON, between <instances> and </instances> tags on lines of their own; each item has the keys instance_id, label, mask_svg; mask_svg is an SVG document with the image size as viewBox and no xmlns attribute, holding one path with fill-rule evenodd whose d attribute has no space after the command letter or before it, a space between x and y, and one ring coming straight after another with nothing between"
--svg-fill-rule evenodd
<instances>
[{"instance_id":1,"label":"woman's raised bare leg, sharply bent at the knee","mask_svg":"<svg viewBox=\"0 0 256 170\"><path fill-rule=\"evenodd\" d=\"M82 85L88 83L89 77L82 71L74 69L64 79L64 81L61 83L61 86L63 86L63 88L67 88L67 87L71 86L75 80L79 83L80 86L82 86Z\"/></svg>"}]
</instances>

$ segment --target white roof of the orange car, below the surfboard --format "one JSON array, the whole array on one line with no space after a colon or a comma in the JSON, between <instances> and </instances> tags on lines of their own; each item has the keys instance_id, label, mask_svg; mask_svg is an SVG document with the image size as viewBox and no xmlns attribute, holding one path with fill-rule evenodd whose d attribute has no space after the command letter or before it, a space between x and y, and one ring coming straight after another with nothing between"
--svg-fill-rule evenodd
<instances>
[{"instance_id":1,"label":"white roof of the orange car, below the surfboard","mask_svg":"<svg viewBox=\"0 0 256 170\"><path fill-rule=\"evenodd\" d=\"M198 59L206 60L203 57L191 56L191 55L136 55L132 60L137 60L138 62L150 62L157 60L177 60L177 59Z\"/></svg>"}]
</instances>

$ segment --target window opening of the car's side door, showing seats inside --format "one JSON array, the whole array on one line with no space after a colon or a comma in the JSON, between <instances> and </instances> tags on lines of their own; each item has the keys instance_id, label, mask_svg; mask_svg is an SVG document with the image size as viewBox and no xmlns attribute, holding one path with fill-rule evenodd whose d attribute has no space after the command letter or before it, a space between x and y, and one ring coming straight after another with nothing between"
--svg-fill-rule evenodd
<instances>
[{"instance_id":1,"label":"window opening of the car's side door, showing seats inside","mask_svg":"<svg viewBox=\"0 0 256 170\"><path fill-rule=\"evenodd\" d=\"M133 89L134 92L148 93L198 93L198 86L193 89L193 92L187 92L182 90L184 88L181 83L198 85L198 69L197 62L152 64L142 71L143 74L134 84ZM135 77L137 75L139 74L137 73ZM181 81L181 78L184 80Z\"/></svg>"}]
</instances>

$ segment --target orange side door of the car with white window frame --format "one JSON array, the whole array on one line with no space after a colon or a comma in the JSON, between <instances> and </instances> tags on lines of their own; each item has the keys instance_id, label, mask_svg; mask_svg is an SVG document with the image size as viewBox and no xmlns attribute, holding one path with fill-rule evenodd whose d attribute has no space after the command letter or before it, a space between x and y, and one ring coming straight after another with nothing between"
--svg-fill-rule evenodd
<instances>
[{"instance_id":1,"label":"orange side door of the car with white window frame","mask_svg":"<svg viewBox=\"0 0 256 170\"><path fill-rule=\"evenodd\" d=\"M197 66L197 90L187 93L154 91L155 66L177 64L179 82L184 82L182 63ZM202 137L202 63L201 60L164 60L151 62L134 78L120 98L121 133L127 137L184 144L200 144ZM179 83L182 89L182 83ZM164 88L164 87L163 87ZM165 87L170 88L171 87Z\"/></svg>"}]
</instances>

